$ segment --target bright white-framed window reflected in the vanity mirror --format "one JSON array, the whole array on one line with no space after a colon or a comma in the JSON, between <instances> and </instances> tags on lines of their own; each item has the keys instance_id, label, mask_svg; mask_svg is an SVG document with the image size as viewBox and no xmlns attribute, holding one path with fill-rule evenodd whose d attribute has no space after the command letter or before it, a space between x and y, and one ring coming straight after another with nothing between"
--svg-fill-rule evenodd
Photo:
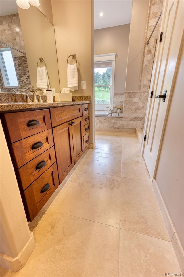
<instances>
[{"instance_id":1,"label":"bright white-framed window reflected in the vanity mirror","mask_svg":"<svg viewBox=\"0 0 184 277\"><path fill-rule=\"evenodd\" d=\"M18 78L10 48L0 49L0 68L4 87L18 87Z\"/></svg>"}]
</instances>

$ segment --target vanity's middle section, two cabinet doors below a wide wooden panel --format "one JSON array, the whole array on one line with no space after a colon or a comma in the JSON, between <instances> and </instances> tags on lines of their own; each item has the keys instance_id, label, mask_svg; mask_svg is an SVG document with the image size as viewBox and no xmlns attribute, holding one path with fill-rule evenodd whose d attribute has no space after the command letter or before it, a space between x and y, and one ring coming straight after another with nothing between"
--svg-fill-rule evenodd
<instances>
[{"instance_id":1,"label":"vanity's middle section, two cabinet doors below a wide wooden panel","mask_svg":"<svg viewBox=\"0 0 184 277\"><path fill-rule=\"evenodd\" d=\"M51 109L51 121L52 124L56 122L62 122L56 120L54 117L57 112L57 116L62 114L64 118L71 118L68 114L67 107L52 108ZM80 113L74 113L74 116L82 115L82 106L76 105L72 107L72 111L80 111ZM56 109L56 110L55 110ZM56 112L55 112L56 111ZM65 114L65 112L69 115ZM68 175L74 164L84 153L83 142L83 118L82 116L73 118L72 120L60 124L53 128L54 145L57 160L57 169L60 183Z\"/></svg>"}]
</instances>

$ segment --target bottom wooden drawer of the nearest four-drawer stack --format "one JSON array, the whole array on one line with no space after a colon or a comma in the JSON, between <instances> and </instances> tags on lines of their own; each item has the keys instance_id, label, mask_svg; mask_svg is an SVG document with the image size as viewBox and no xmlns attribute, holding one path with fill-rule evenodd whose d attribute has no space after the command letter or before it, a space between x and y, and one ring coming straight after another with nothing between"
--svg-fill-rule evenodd
<instances>
[{"instance_id":1,"label":"bottom wooden drawer of the nearest four-drawer stack","mask_svg":"<svg viewBox=\"0 0 184 277\"><path fill-rule=\"evenodd\" d=\"M42 188L46 184L49 184L48 189L41 193ZM23 191L30 221L35 218L58 186L57 166L54 163L34 183Z\"/></svg>"}]
</instances>

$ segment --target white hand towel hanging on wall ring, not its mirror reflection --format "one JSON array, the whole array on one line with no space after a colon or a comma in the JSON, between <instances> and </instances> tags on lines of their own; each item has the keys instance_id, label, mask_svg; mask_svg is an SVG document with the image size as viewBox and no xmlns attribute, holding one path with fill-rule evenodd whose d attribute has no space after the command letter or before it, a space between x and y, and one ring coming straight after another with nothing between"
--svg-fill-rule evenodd
<instances>
[{"instance_id":1,"label":"white hand towel hanging on wall ring, not its mirror reflection","mask_svg":"<svg viewBox=\"0 0 184 277\"><path fill-rule=\"evenodd\" d=\"M78 89L78 73L76 63L68 64L67 79L70 90Z\"/></svg>"}]
</instances>

